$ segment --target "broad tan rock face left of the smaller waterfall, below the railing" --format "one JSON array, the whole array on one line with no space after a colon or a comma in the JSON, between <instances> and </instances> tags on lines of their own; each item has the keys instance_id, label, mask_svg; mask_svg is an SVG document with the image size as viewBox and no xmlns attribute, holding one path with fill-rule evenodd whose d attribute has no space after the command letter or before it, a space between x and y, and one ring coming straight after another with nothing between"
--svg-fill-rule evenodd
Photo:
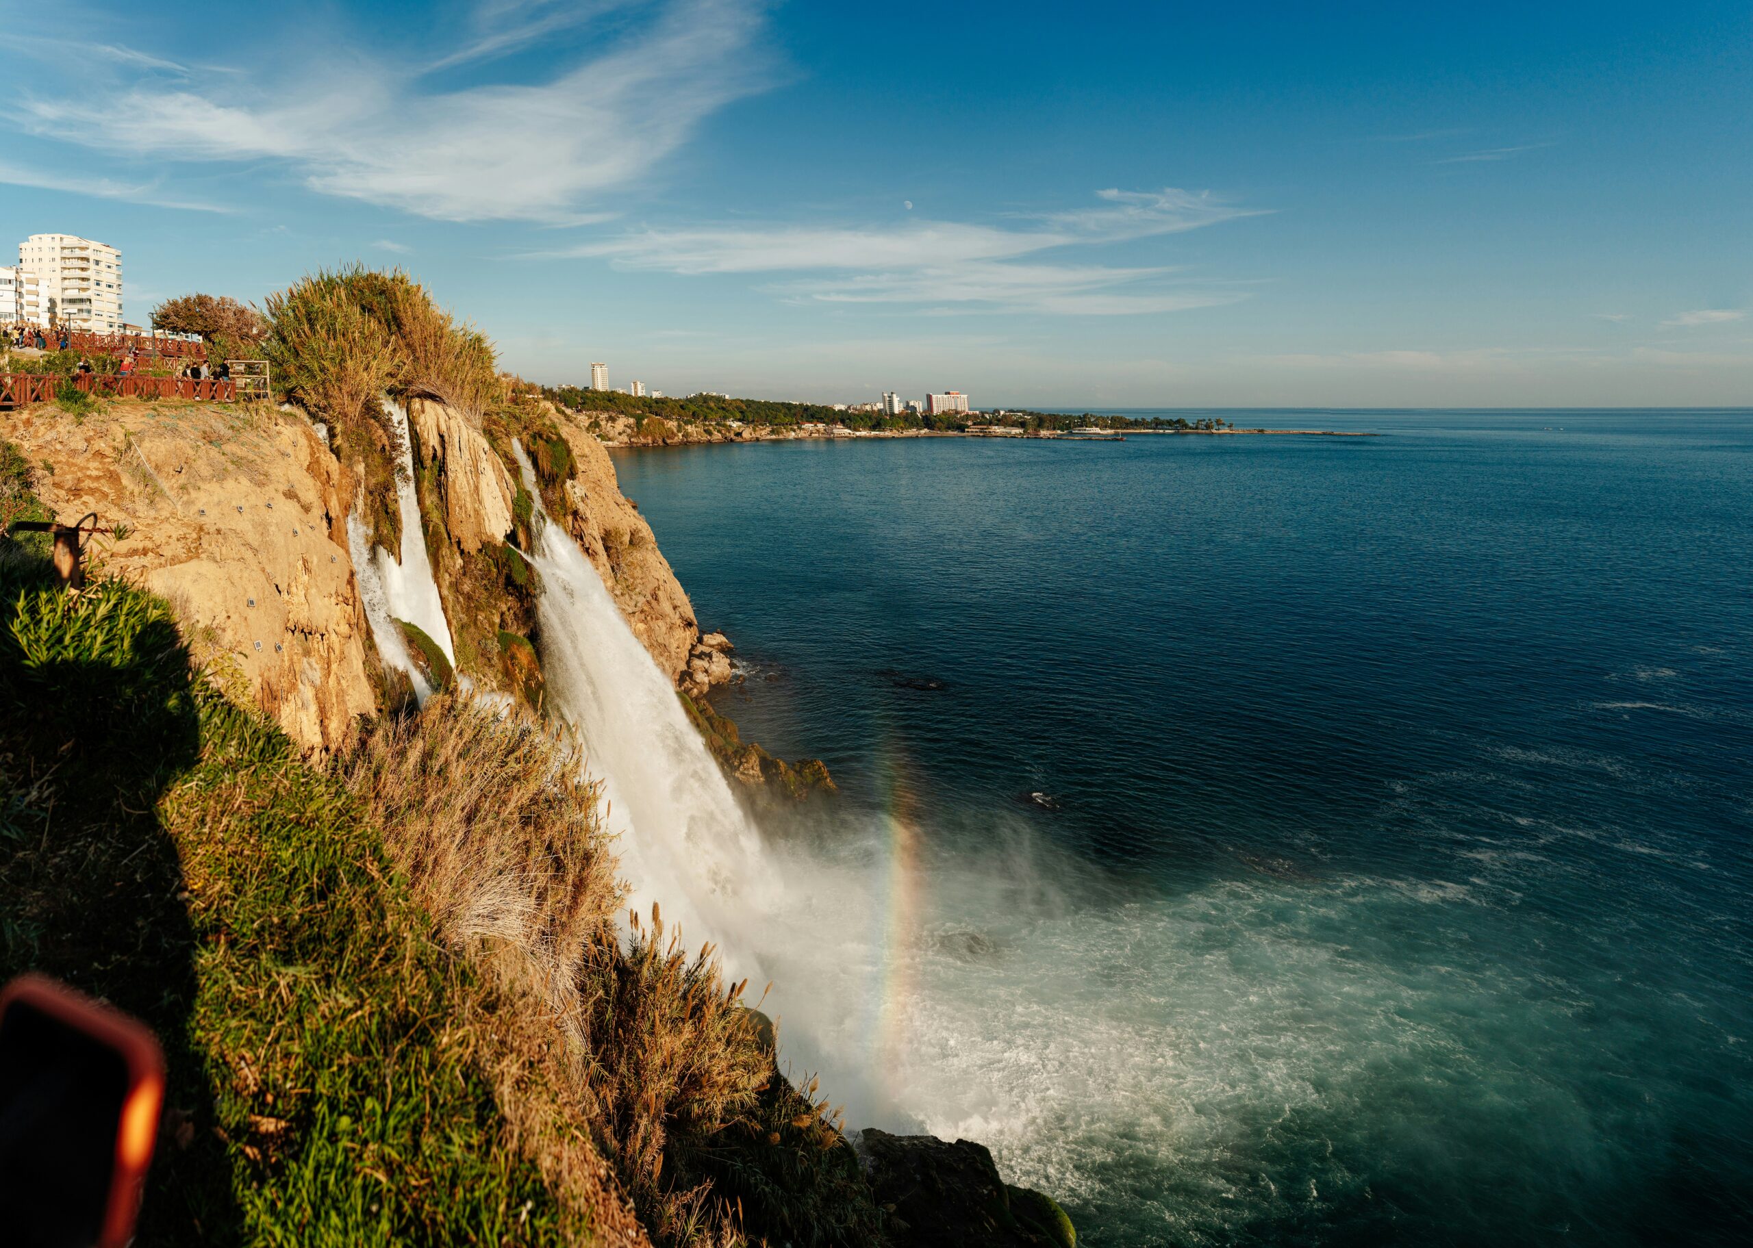
<instances>
[{"instance_id":1,"label":"broad tan rock face left of the smaller waterfall, below the railing","mask_svg":"<svg viewBox=\"0 0 1753 1248\"><path fill-rule=\"evenodd\" d=\"M82 422L19 412L5 436L44 466L39 494L61 521L128 526L96 540L100 566L170 599L196 659L302 747L342 747L373 710L338 464L309 421L117 403Z\"/></svg>"}]
</instances>

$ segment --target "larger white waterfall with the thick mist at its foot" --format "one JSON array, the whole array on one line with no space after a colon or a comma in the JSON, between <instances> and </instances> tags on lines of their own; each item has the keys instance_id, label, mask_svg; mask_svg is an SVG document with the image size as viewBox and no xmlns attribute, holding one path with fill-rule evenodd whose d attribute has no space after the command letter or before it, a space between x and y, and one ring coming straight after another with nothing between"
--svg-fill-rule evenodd
<instances>
[{"instance_id":1,"label":"larger white waterfall with the thick mist at its foot","mask_svg":"<svg viewBox=\"0 0 1753 1248\"><path fill-rule=\"evenodd\" d=\"M549 706L582 743L584 771L603 785L629 904L649 911L656 901L691 948L717 945L726 976L749 978L750 1003L775 982L763 1010L780 1022L782 1069L799 1080L820 1074L850 1122L919 1129L922 1117L873 1073L885 1060L878 1029L859 1008L885 975L882 869L864 845L852 861L831 862L763 843L675 685L542 508L529 457L514 450L536 508L528 557L542 578Z\"/></svg>"}]
</instances>

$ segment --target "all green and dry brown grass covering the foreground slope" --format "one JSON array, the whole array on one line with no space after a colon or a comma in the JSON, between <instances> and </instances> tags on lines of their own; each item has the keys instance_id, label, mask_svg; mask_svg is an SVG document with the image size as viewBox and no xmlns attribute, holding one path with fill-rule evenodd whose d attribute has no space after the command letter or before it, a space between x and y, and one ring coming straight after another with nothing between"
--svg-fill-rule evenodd
<instances>
[{"instance_id":1,"label":"all green and dry brown grass covering the foreground slope","mask_svg":"<svg viewBox=\"0 0 1753 1248\"><path fill-rule=\"evenodd\" d=\"M9 547L0 975L165 1041L144 1241L882 1239L745 985L656 910L617 936L577 762L440 696L314 769L161 599Z\"/></svg>"}]
</instances>

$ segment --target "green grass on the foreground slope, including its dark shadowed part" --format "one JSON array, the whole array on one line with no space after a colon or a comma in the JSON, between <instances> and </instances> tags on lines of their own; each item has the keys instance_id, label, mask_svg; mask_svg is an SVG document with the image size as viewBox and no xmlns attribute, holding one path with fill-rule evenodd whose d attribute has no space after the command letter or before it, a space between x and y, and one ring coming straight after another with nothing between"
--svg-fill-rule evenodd
<instances>
[{"instance_id":1,"label":"green grass on the foreground slope, including its dark shadowed part","mask_svg":"<svg viewBox=\"0 0 1753 1248\"><path fill-rule=\"evenodd\" d=\"M552 1243L477 1073L491 996L347 792L189 668L167 605L0 550L0 976L165 1045L142 1244Z\"/></svg>"}]
</instances>

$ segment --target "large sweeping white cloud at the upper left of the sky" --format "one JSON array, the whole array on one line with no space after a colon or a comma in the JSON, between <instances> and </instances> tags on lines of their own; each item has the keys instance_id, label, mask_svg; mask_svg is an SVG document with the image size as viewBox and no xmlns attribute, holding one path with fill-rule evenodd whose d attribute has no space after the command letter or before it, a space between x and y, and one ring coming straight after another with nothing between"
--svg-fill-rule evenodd
<instances>
[{"instance_id":1,"label":"large sweeping white cloud at the upper left of the sky","mask_svg":"<svg viewBox=\"0 0 1753 1248\"><path fill-rule=\"evenodd\" d=\"M594 11L594 9L593 9ZM507 40L557 21L547 4L501 4ZM570 19L570 18L568 18ZM421 70L370 53L282 65L282 81L203 79L116 95L26 100L44 137L182 161L279 160L324 195L451 221L600 219L594 196L647 175L710 112L771 82L754 37L757 0L677 0L607 51L538 84L426 91ZM459 49L486 56L480 30Z\"/></svg>"}]
</instances>

